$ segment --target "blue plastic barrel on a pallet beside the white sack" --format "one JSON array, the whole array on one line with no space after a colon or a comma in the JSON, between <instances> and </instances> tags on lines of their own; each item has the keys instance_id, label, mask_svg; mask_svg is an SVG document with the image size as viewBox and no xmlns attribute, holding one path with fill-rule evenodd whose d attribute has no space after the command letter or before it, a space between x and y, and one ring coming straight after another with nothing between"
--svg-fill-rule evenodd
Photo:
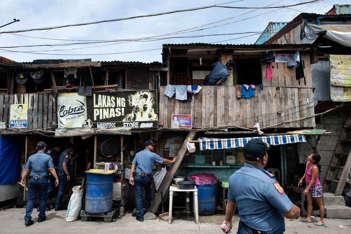
<instances>
[{"instance_id":1,"label":"blue plastic barrel on a pallet beside the white sack","mask_svg":"<svg viewBox=\"0 0 351 234\"><path fill-rule=\"evenodd\" d=\"M101 214L112 210L113 174L87 173L85 211Z\"/></svg>"}]
</instances>

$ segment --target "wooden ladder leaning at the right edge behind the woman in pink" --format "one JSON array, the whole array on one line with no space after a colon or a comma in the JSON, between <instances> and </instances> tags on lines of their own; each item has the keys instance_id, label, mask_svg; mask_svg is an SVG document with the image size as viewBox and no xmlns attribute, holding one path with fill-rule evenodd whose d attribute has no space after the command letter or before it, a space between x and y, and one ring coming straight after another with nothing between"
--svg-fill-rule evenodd
<instances>
[{"instance_id":1,"label":"wooden ladder leaning at the right edge behind the woman in pink","mask_svg":"<svg viewBox=\"0 0 351 234\"><path fill-rule=\"evenodd\" d=\"M339 134L328 171L323 182L323 191L327 191L330 183L337 183L335 196L340 196L344 190L345 182L351 168L351 108L343 129ZM340 180L333 180L335 169L342 170Z\"/></svg>"}]
</instances>

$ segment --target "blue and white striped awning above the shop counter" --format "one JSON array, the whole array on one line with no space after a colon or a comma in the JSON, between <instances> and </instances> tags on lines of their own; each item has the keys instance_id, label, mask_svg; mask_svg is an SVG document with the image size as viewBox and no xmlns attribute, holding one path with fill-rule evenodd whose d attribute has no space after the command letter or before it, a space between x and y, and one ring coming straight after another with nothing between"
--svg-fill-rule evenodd
<instances>
[{"instance_id":1,"label":"blue and white striped awning above the shop counter","mask_svg":"<svg viewBox=\"0 0 351 234\"><path fill-rule=\"evenodd\" d=\"M241 138L207 138L200 137L200 150L221 150L236 147L244 147L246 143L254 138L258 138L263 142L267 142L270 145L283 145L297 142L306 142L304 135L289 134L289 135L278 135L278 136L260 136L260 137L241 137Z\"/></svg>"}]
</instances>

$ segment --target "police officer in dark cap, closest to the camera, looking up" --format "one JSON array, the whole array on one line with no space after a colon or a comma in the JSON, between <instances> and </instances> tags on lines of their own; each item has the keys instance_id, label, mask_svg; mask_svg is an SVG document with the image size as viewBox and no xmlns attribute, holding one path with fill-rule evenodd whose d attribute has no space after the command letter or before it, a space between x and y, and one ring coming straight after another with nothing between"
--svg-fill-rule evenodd
<instances>
[{"instance_id":1,"label":"police officer in dark cap, closest to the camera, looking up","mask_svg":"<svg viewBox=\"0 0 351 234\"><path fill-rule=\"evenodd\" d=\"M232 216L238 206L238 234L278 234L285 231L284 216L299 218L300 208L293 205L273 174L263 168L267 164L270 145L252 139L244 146L245 165L229 178L228 203L221 227L232 228Z\"/></svg>"}]
</instances>

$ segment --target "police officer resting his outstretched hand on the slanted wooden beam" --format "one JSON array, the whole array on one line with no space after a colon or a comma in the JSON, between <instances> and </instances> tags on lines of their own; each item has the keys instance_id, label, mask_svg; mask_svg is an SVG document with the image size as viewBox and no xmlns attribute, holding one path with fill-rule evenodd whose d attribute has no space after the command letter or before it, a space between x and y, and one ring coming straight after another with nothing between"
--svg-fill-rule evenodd
<instances>
[{"instance_id":1,"label":"police officer resting his outstretched hand on the slanted wooden beam","mask_svg":"<svg viewBox=\"0 0 351 234\"><path fill-rule=\"evenodd\" d=\"M135 158L132 161L131 177L129 183L135 187L135 207L137 208L136 220L144 221L144 209L143 209L143 187L145 188L145 201L146 210L151 205L151 180L152 180L152 169L156 163L174 163L176 158L168 160L161 158L154 150L156 143L151 140L147 140L144 144L145 149L135 154ZM135 169L136 167L136 169ZM135 169L135 176L134 171Z\"/></svg>"}]
</instances>

